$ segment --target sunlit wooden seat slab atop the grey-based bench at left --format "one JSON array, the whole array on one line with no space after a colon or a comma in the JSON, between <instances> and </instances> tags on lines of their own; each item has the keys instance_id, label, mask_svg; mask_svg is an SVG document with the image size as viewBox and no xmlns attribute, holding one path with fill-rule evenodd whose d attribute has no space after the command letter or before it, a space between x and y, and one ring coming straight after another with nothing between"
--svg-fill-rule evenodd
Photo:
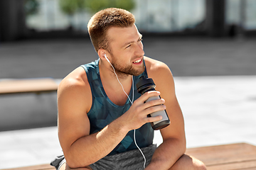
<instances>
[{"instance_id":1,"label":"sunlit wooden seat slab atop the grey-based bench at left","mask_svg":"<svg viewBox=\"0 0 256 170\"><path fill-rule=\"evenodd\" d=\"M58 84L53 79L6 79L0 81L0 94L22 94L57 91Z\"/></svg>"}]
</instances>

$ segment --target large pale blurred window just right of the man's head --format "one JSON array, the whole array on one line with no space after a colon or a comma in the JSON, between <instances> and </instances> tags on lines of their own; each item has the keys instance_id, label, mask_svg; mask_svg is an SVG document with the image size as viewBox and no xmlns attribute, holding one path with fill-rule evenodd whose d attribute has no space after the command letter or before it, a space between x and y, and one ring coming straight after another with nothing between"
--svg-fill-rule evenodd
<instances>
[{"instance_id":1,"label":"large pale blurred window just right of the man's head","mask_svg":"<svg viewBox=\"0 0 256 170\"><path fill-rule=\"evenodd\" d=\"M138 28L148 32L174 32L193 28L205 18L204 0L138 1Z\"/></svg>"}]
</instances>

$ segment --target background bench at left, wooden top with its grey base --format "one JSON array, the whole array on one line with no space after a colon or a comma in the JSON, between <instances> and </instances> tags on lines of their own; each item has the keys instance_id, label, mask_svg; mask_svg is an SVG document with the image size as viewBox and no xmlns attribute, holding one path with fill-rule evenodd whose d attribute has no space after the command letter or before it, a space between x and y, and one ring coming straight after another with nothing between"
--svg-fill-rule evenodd
<instances>
[{"instance_id":1,"label":"background bench at left, wooden top with its grey base","mask_svg":"<svg viewBox=\"0 0 256 170\"><path fill-rule=\"evenodd\" d=\"M0 79L0 130L55 125L57 89L50 78Z\"/></svg>"}]
</instances>

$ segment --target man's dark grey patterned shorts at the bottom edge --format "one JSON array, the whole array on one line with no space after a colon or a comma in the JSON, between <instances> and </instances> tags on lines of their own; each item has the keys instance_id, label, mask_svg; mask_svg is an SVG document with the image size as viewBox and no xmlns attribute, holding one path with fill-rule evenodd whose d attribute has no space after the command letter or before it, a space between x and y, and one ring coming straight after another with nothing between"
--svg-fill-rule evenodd
<instances>
[{"instance_id":1,"label":"man's dark grey patterned shorts at the bottom edge","mask_svg":"<svg viewBox=\"0 0 256 170\"><path fill-rule=\"evenodd\" d=\"M156 150L156 145L150 145L149 147L142 148L142 152L146 157L146 166L151 162L152 155ZM50 164L55 166L58 170L61 165L65 163L64 156L57 157ZM114 154L103 157L94 164L90 164L93 170L141 170L144 169L144 157L139 149L134 149L128 152Z\"/></svg>"}]
</instances>

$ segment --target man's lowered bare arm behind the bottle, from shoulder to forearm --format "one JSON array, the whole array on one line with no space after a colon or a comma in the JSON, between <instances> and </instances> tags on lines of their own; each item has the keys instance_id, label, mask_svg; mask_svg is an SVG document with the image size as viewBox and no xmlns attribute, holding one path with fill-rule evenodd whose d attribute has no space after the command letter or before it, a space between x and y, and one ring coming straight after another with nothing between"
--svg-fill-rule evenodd
<instances>
[{"instance_id":1,"label":"man's lowered bare arm behind the bottle, from shoulder to forearm","mask_svg":"<svg viewBox=\"0 0 256 170\"><path fill-rule=\"evenodd\" d=\"M161 98L166 101L166 112L171 120L168 127L160 130L163 143L156 149L151 164L146 169L170 169L186 150L183 115L176 99L174 79L169 67L151 59L145 61L148 61L146 68L149 77L154 80L156 90L161 92Z\"/></svg>"}]
</instances>

